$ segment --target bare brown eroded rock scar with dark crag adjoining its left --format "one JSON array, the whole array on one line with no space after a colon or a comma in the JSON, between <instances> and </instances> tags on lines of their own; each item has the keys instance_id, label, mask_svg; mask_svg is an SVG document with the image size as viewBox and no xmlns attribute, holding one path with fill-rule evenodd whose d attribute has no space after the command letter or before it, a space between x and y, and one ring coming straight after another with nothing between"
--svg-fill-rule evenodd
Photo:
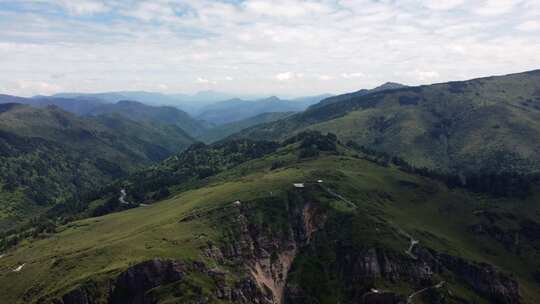
<instances>
[{"instance_id":1,"label":"bare brown eroded rock scar with dark crag adjoining its left","mask_svg":"<svg viewBox=\"0 0 540 304\"><path fill-rule=\"evenodd\" d=\"M150 260L130 267L114 280L107 282L106 300L95 302L96 291L81 286L58 300L58 304L153 304L151 289L173 282L181 282L189 273L197 272L210 277L214 283L215 299L239 304L278 304L283 302L287 275L300 248L309 243L312 235L324 223L324 216L310 203L291 204L287 210L288 227L276 235L268 227L249 220L249 210L238 206L239 216L234 219L234 231L229 240L216 246L208 242L202 249L206 258L218 264L233 263L245 269L249 276L232 286L225 274L210 270L202 263L187 264L172 260ZM189 220L189 219L188 219ZM94 301L94 302L93 302ZM201 297L199 302L207 303Z\"/></svg>"}]
</instances>

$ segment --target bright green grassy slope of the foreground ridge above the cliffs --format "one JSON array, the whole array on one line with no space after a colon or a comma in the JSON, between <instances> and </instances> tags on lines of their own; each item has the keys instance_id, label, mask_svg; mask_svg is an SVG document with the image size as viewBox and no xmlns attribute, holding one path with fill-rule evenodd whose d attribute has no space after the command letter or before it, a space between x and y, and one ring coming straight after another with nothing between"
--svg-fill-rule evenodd
<instances>
[{"instance_id":1,"label":"bright green grassy slope of the foreground ridge above the cliffs","mask_svg":"<svg viewBox=\"0 0 540 304\"><path fill-rule=\"evenodd\" d=\"M288 165L270 171L277 159ZM357 231L361 243L376 240L399 251L407 246L407 240L392 231L403 229L432 248L504 267L519 278L526 303L540 299L540 286L530 278L532 269L538 267L534 256L520 259L497 243L479 241L467 230L467 223L474 221L474 210L494 206L490 199L450 192L427 179L350 156L324 156L299 163L294 159L285 148L220 174L206 187L149 207L75 222L47 239L24 243L0 259L0 302L31 302L37 296L65 292L90 277L113 276L154 257L203 259L198 248L208 239L219 240L224 222L211 217L181 223L179 219L196 209L230 206L235 200L280 196L293 182L319 178L326 181L326 187L355 202L357 208L324 195L320 196L321 204L328 204L335 212L357 214L359 219L379 218L387 223L387 229L375 232L367 222L364 230ZM496 206L539 221L536 197L499 201ZM201 238L202 234L205 237ZM11 271L22 263L26 266L21 272ZM399 288L411 291L407 286ZM454 292L462 288L451 284Z\"/></svg>"}]
</instances>

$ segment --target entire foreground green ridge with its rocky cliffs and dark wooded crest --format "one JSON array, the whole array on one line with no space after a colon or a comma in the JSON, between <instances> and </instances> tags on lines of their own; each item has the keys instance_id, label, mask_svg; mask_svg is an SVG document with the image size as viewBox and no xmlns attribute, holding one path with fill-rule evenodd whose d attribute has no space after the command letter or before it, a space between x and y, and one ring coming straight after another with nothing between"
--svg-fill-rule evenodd
<instances>
[{"instance_id":1,"label":"entire foreground green ridge with its rocky cliffs and dark wooded crest","mask_svg":"<svg viewBox=\"0 0 540 304\"><path fill-rule=\"evenodd\" d=\"M331 135L265 146L201 146L198 168L220 170L2 253L0 302L540 301L540 189L523 200L451 190ZM200 154L147 174L187 172L182 155Z\"/></svg>"}]
</instances>

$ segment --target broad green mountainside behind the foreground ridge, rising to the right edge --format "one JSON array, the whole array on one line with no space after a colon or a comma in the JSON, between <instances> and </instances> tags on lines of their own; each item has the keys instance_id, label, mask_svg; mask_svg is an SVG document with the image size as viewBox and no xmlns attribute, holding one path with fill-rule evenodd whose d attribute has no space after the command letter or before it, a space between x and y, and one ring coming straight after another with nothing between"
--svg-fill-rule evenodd
<instances>
[{"instance_id":1,"label":"broad green mountainside behind the foreground ridge, rising to the right edge","mask_svg":"<svg viewBox=\"0 0 540 304\"><path fill-rule=\"evenodd\" d=\"M540 71L331 98L234 138L283 139L302 130L438 171L538 172Z\"/></svg>"}]
</instances>

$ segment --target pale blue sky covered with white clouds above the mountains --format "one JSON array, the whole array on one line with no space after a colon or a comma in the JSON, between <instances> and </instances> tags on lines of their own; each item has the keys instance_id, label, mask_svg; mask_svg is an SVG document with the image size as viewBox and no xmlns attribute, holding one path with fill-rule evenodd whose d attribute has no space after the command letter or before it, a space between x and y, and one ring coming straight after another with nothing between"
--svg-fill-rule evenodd
<instances>
[{"instance_id":1,"label":"pale blue sky covered with white clouds above the mountains","mask_svg":"<svg viewBox=\"0 0 540 304\"><path fill-rule=\"evenodd\" d=\"M342 93L540 69L539 0L0 0L0 93Z\"/></svg>"}]
</instances>

